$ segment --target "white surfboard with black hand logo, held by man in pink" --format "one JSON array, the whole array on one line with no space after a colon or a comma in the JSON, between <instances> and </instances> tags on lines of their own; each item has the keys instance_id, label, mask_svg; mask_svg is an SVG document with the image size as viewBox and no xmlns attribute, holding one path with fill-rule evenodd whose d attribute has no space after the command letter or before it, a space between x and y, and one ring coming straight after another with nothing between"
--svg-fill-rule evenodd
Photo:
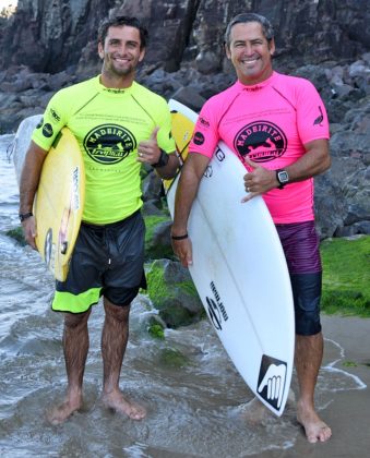
<instances>
[{"instance_id":1,"label":"white surfboard with black hand logo, held by man in pink","mask_svg":"<svg viewBox=\"0 0 370 458\"><path fill-rule=\"evenodd\" d=\"M184 157L198 114L176 100L169 107L172 135ZM189 270L236 369L254 395L281 415L294 365L293 293L285 255L263 198L241 203L244 174L238 157L220 143L190 214L193 265ZM171 215L178 179L165 182Z\"/></svg>"}]
</instances>

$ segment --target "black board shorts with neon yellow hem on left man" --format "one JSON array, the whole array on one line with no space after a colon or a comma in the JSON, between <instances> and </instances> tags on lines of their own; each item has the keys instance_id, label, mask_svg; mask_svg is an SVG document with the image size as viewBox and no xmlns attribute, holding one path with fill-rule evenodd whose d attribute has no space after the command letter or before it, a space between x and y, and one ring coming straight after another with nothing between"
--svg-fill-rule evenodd
<instances>
[{"instance_id":1,"label":"black board shorts with neon yellow hem on left man","mask_svg":"<svg viewBox=\"0 0 370 458\"><path fill-rule=\"evenodd\" d=\"M141 212L105 226L82 222L65 281L56 282L52 310L82 313L100 296L129 305L144 274L145 225Z\"/></svg>"}]
</instances>

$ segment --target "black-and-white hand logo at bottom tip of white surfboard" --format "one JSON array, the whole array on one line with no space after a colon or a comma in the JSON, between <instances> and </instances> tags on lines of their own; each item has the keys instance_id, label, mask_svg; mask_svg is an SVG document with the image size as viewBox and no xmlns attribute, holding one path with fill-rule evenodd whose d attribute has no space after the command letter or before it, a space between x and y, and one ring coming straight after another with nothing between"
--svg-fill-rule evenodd
<instances>
[{"instance_id":1,"label":"black-and-white hand logo at bottom tip of white surfboard","mask_svg":"<svg viewBox=\"0 0 370 458\"><path fill-rule=\"evenodd\" d=\"M274 409L282 406L287 364L264 354L261 360L258 393Z\"/></svg>"}]
</instances>

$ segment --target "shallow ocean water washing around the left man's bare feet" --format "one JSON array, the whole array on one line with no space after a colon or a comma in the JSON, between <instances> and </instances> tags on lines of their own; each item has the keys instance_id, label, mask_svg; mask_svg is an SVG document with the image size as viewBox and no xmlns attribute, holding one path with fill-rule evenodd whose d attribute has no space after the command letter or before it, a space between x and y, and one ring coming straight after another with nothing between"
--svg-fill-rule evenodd
<instances>
[{"instance_id":1,"label":"shallow ocean water washing around the left man's bare feet","mask_svg":"<svg viewBox=\"0 0 370 458\"><path fill-rule=\"evenodd\" d=\"M251 391L211 324L167 329L165 340L152 338L147 323L156 311L145 296L132 306L121 388L146 407L147 418L131 421L100 405L104 316L98 304L89 320L83 409L62 425L47 422L47 410L63 399L65 388L62 315L50 311L53 279L39 255L5 234L19 226L17 184L7 155L12 140L0 136L1 457L237 458L293 447L301 434L294 402L279 419L248 422L243 412ZM330 359L317 390L322 410L335 402L337 390L363 388L359 378L336 369L344 350L334 341L326 347ZM171 352L181 353L183 363L168 359Z\"/></svg>"}]
</instances>

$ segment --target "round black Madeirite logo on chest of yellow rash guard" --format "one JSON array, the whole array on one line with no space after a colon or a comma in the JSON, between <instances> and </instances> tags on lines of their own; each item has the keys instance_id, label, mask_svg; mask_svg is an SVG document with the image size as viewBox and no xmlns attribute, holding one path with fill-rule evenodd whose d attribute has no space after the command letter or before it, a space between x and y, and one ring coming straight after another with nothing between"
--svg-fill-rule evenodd
<instances>
[{"instance_id":1,"label":"round black Madeirite logo on chest of yellow rash guard","mask_svg":"<svg viewBox=\"0 0 370 458\"><path fill-rule=\"evenodd\" d=\"M88 132L84 140L84 148L96 162L104 165L123 160L136 147L133 134L117 124L98 125Z\"/></svg>"}]
</instances>

